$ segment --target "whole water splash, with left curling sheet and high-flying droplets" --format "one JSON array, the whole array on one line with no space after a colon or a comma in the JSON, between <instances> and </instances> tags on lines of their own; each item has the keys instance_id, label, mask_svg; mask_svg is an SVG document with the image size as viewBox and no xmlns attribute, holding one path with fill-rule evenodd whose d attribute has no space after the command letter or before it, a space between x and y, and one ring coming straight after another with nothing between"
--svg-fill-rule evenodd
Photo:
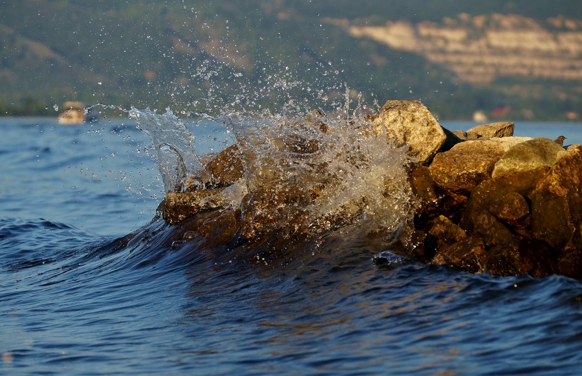
<instances>
[{"instance_id":1,"label":"whole water splash, with left curling sheet and high-flying droplets","mask_svg":"<svg viewBox=\"0 0 582 376\"><path fill-rule=\"evenodd\" d=\"M244 170L221 197L201 200L205 207L240 208L244 237L313 238L341 229L357 242L386 247L407 233L414 212L405 170L411 159L385 134L374 134L361 93L346 83L316 88L321 82L299 81L287 66L267 66L251 82L216 56L191 72L208 90L184 90L200 95L175 113L223 123ZM152 140L166 194L210 186L205 163L213 155L194 152L193 134L174 112L129 115Z\"/></svg>"}]
</instances>

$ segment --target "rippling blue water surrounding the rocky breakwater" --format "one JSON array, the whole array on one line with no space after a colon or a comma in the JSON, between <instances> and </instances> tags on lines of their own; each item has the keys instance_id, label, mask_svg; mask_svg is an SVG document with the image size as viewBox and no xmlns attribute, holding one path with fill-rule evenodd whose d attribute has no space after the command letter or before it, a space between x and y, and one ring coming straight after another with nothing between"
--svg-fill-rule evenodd
<instances>
[{"instance_id":1,"label":"rippling blue water surrounding the rocky breakwater","mask_svg":"<svg viewBox=\"0 0 582 376\"><path fill-rule=\"evenodd\" d=\"M256 261L176 247L154 218L155 145L126 115L0 118L2 374L579 372L582 284L563 276L418 264L342 228ZM184 127L197 155L236 140L221 122ZM580 123L515 133L582 142Z\"/></svg>"}]
</instances>

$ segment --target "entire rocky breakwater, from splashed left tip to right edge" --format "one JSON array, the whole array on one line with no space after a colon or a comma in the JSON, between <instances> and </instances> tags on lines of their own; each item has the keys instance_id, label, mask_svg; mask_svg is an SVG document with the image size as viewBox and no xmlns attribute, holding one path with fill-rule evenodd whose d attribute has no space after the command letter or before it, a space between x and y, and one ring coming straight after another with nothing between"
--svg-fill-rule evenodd
<instances>
[{"instance_id":1,"label":"entire rocky breakwater, from splashed left tip to right edge","mask_svg":"<svg viewBox=\"0 0 582 376\"><path fill-rule=\"evenodd\" d=\"M317 113L297 126L332 133L323 120ZM469 272L582 279L582 146L564 148L550 139L513 137L510 122L451 132L418 101L388 101L362 122L344 126L369 139L385 135L392 148L404 148L410 155L404 163L408 186L384 172L378 175L382 179L367 183L381 186L381 198L388 201L379 203L393 204L389 198L400 195L395 207L413 211L414 223L397 226L402 218L395 217L375 226L365 233L364 243L390 228L389 237L398 237L404 246L384 242L371 249L379 251L378 244L389 243L418 261ZM350 141L342 137L350 134L340 132L335 140L347 147ZM207 189L190 186L190 191L169 192L161 204L162 216L205 242L276 237L286 242L281 244L308 240L317 226L340 228L347 218L360 218L357 213L370 205L370 197L347 200L309 220L314 205L337 200L337 194L327 193L329 187L338 185L343 171L360 163L362 155L354 158L338 148L335 158L346 168L331 170L332 161L309 158L327 147L324 139L290 136L269 141L275 154L261 154L261 160L244 140L223 150L205 164ZM289 167L301 164L308 168L292 175ZM276 183L283 181L285 185ZM402 205L402 197L408 196L414 203ZM280 225L281 218L292 220Z\"/></svg>"}]
</instances>

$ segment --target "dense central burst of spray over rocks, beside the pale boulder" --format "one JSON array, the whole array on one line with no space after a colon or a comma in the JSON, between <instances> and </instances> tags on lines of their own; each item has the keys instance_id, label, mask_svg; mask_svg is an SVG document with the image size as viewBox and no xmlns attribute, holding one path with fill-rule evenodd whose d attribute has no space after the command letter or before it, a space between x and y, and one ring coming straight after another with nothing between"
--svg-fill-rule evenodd
<instances>
[{"instance_id":1,"label":"dense central burst of spray over rocks, beside the pale boulder","mask_svg":"<svg viewBox=\"0 0 582 376\"><path fill-rule=\"evenodd\" d=\"M228 125L243 155L247 237L342 228L388 246L409 228L414 201L404 167L412 159L364 118L261 116Z\"/></svg>"}]
</instances>

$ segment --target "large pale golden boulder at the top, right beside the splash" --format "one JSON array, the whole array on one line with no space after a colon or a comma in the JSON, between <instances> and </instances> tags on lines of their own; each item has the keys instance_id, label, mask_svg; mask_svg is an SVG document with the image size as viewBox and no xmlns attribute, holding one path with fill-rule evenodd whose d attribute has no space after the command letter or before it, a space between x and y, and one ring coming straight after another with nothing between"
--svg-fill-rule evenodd
<instances>
[{"instance_id":1,"label":"large pale golden boulder at the top, right beside the splash","mask_svg":"<svg viewBox=\"0 0 582 376\"><path fill-rule=\"evenodd\" d=\"M376 134L386 134L398 146L409 145L420 164L430 161L446 140L441 125L420 101L388 101L371 123Z\"/></svg>"}]
</instances>

